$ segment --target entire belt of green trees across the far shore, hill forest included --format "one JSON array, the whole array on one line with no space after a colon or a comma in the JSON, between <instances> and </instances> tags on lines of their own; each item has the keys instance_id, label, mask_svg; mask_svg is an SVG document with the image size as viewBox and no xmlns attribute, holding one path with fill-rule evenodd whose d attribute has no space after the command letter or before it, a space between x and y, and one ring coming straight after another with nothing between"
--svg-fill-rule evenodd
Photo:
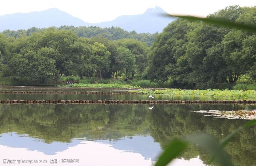
<instances>
[{"instance_id":1,"label":"entire belt of green trees across the far shore, hill forest included","mask_svg":"<svg viewBox=\"0 0 256 166\"><path fill-rule=\"evenodd\" d=\"M207 16L256 25L255 7L229 6ZM152 41L154 40L151 47ZM40 83L61 76L172 82L175 88L225 89L256 79L256 35L177 19L160 34L121 28L61 26L0 33L2 76Z\"/></svg>"}]
</instances>

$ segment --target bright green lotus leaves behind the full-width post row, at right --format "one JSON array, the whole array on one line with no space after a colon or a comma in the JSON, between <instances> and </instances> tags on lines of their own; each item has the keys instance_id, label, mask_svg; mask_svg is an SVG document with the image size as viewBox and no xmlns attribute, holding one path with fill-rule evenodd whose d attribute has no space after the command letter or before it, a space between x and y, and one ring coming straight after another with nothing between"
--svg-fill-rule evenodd
<instances>
[{"instance_id":1,"label":"bright green lotus leaves behind the full-width post row, at right","mask_svg":"<svg viewBox=\"0 0 256 166\"><path fill-rule=\"evenodd\" d=\"M230 98L230 99L256 99L256 90L182 90L182 89L164 89L164 90L131 90L131 92L147 93L147 94L166 94L170 96L200 96L214 98Z\"/></svg>"}]
</instances>

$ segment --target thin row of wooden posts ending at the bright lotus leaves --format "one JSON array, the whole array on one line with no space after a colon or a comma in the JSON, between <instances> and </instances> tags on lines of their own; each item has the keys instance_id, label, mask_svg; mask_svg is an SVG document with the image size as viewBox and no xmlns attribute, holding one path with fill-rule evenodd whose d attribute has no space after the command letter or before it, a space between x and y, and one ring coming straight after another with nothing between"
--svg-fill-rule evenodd
<instances>
[{"instance_id":1,"label":"thin row of wooden posts ending at the bright lotus leaves","mask_svg":"<svg viewBox=\"0 0 256 166\"><path fill-rule=\"evenodd\" d=\"M97 91L84 91L84 92L62 92L62 91L0 91L0 93L45 93L45 94L144 94L137 92L97 92Z\"/></svg>"}]
</instances>

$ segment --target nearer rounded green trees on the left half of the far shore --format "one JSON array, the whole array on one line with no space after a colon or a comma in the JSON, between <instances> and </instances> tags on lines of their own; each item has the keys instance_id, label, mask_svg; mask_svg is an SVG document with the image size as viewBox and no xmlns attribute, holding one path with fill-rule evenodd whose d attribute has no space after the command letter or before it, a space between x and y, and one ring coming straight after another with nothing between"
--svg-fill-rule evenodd
<instances>
[{"instance_id":1,"label":"nearer rounded green trees on the left half of the far shore","mask_svg":"<svg viewBox=\"0 0 256 166\"><path fill-rule=\"evenodd\" d=\"M133 79L147 66L148 47L135 39L110 41L78 37L72 30L47 28L19 38L0 34L0 69L4 77L40 83L61 76L110 78L124 73Z\"/></svg>"}]
</instances>

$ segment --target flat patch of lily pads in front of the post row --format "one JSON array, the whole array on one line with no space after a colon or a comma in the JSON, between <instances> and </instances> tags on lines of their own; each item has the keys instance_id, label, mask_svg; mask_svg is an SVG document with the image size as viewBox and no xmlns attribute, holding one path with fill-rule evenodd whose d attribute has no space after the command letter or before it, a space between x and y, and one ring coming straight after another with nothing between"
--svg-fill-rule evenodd
<instances>
[{"instance_id":1,"label":"flat patch of lily pads in front of the post row","mask_svg":"<svg viewBox=\"0 0 256 166\"><path fill-rule=\"evenodd\" d=\"M238 111L219 111L219 110L200 110L188 111L197 113L207 113L212 118L228 118L228 119L256 119L256 110L238 110Z\"/></svg>"}]
</instances>

